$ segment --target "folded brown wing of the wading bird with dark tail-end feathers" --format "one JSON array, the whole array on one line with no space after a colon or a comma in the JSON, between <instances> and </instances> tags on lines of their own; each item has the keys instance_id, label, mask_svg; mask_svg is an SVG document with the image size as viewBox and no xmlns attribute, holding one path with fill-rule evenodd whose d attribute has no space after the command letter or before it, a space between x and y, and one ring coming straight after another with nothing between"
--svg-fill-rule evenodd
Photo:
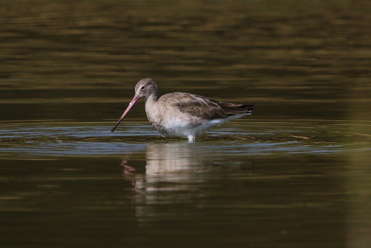
<instances>
[{"instance_id":1,"label":"folded brown wing of the wading bird with dark tail-end feathers","mask_svg":"<svg viewBox=\"0 0 371 248\"><path fill-rule=\"evenodd\" d=\"M185 92L174 92L163 95L159 100L176 106L181 112L198 116L206 120L226 118L229 115L247 113L252 109L243 108L252 105L235 105L233 103L218 102L204 96Z\"/></svg>"}]
</instances>

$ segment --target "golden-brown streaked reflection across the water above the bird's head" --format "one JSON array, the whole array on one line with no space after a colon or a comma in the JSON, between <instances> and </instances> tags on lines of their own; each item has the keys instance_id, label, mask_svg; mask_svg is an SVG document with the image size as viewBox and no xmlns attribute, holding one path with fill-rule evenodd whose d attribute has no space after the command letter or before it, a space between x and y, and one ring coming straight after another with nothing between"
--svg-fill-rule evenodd
<instances>
[{"instance_id":1,"label":"golden-brown streaked reflection across the water above the bird's head","mask_svg":"<svg viewBox=\"0 0 371 248\"><path fill-rule=\"evenodd\" d=\"M370 6L354 1L6 2L0 76L47 77L27 87L189 72L270 84L370 77Z\"/></svg>"}]
</instances>

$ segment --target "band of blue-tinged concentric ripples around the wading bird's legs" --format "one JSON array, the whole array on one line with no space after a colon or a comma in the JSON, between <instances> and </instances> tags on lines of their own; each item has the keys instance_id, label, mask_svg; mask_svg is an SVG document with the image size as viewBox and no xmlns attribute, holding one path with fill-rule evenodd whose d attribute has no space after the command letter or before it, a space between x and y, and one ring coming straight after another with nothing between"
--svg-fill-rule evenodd
<instances>
[{"instance_id":1,"label":"band of blue-tinged concentric ripples around the wading bird's legs","mask_svg":"<svg viewBox=\"0 0 371 248\"><path fill-rule=\"evenodd\" d=\"M145 151L148 144L171 143L179 148L217 154L293 154L339 153L370 150L370 123L336 121L255 122L248 130L243 122L229 123L207 136L189 143L180 138L162 138L154 128L143 123L120 126L79 123L23 124L0 127L0 152L6 157L40 156L121 156ZM176 150L178 151L178 149ZM168 152L176 152L169 149Z\"/></svg>"}]
</instances>

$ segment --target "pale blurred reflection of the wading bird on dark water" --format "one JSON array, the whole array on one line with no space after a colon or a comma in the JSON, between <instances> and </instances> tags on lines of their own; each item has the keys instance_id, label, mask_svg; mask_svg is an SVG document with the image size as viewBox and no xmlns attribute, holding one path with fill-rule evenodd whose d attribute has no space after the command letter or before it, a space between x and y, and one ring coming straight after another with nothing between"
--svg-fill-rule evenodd
<instances>
[{"instance_id":1,"label":"pale blurred reflection of the wading bird on dark water","mask_svg":"<svg viewBox=\"0 0 371 248\"><path fill-rule=\"evenodd\" d=\"M185 141L147 144L145 173L138 173L135 166L129 165L130 158L125 158L123 176L132 182L132 208L138 220L145 222L154 216L168 215L160 207L162 204L194 201L200 183L217 181L224 170L236 169L235 165L250 166L246 157L240 161L237 158L233 163L223 160L217 149L220 147Z\"/></svg>"}]
</instances>

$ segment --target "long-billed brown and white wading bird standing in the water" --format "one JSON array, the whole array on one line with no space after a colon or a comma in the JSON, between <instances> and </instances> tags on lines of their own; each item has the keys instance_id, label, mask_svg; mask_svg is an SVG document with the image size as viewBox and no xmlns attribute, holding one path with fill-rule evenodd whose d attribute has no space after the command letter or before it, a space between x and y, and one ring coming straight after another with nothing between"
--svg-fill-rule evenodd
<instances>
[{"instance_id":1,"label":"long-billed brown and white wading bird standing in the water","mask_svg":"<svg viewBox=\"0 0 371 248\"><path fill-rule=\"evenodd\" d=\"M114 132L129 110L144 97L145 112L152 126L165 136L177 136L194 141L225 122L251 115L252 106L219 102L204 96L186 92L158 95L158 86L151 78L139 80L128 108L111 130Z\"/></svg>"}]
</instances>

